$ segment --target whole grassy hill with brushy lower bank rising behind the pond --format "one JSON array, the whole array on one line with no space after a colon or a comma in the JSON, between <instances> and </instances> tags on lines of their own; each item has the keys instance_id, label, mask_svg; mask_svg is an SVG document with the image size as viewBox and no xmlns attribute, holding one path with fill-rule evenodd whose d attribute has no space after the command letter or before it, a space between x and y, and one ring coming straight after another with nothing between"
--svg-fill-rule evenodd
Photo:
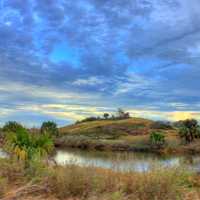
<instances>
[{"instance_id":1,"label":"whole grassy hill with brushy lower bank rising behind the pond","mask_svg":"<svg viewBox=\"0 0 200 200\"><path fill-rule=\"evenodd\" d=\"M142 118L78 123L60 128L61 137L56 140L56 145L98 150L150 151L149 135L152 131L162 131L167 146L178 145L180 141L176 130L156 128L155 123Z\"/></svg>"}]
</instances>

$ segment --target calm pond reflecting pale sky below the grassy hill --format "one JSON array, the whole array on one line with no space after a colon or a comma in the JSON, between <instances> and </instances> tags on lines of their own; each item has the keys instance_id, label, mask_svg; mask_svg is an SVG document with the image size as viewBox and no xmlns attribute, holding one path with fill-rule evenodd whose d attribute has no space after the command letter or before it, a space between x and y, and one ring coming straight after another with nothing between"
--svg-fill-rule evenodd
<instances>
[{"instance_id":1,"label":"calm pond reflecting pale sky below the grassy hill","mask_svg":"<svg viewBox=\"0 0 200 200\"><path fill-rule=\"evenodd\" d=\"M54 155L59 165L76 164L117 171L148 171L154 167L186 167L200 171L200 156L161 156L151 153L101 152L78 149L57 149Z\"/></svg>"}]
</instances>

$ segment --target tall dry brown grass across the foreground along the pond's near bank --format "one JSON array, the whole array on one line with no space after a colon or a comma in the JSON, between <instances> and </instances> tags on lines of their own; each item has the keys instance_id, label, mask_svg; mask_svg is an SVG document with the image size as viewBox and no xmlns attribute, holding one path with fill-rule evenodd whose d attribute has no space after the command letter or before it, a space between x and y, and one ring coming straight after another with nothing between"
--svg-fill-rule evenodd
<instances>
[{"instance_id":1,"label":"tall dry brown grass across the foreground along the pond's near bank","mask_svg":"<svg viewBox=\"0 0 200 200\"><path fill-rule=\"evenodd\" d=\"M187 192L196 192L200 185L197 175L181 168L121 173L75 165L47 166L42 162L32 162L29 168L24 168L22 162L5 159L0 162L0 177L9 184L32 181L45 187L49 195L62 200L70 197L88 200L180 200Z\"/></svg>"}]
</instances>

